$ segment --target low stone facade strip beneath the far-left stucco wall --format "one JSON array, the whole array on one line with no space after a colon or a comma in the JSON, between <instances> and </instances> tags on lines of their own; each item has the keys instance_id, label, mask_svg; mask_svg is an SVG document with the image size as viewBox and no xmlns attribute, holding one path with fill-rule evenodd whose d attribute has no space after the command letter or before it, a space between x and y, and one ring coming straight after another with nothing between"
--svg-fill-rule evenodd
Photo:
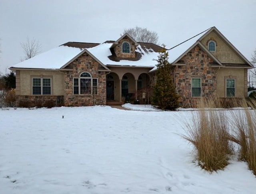
<instances>
[{"instance_id":1,"label":"low stone facade strip beneath the far-left stucco wall","mask_svg":"<svg viewBox=\"0 0 256 194\"><path fill-rule=\"evenodd\" d=\"M64 96L53 95L16 95L18 107L55 107L63 106Z\"/></svg>"}]
</instances>

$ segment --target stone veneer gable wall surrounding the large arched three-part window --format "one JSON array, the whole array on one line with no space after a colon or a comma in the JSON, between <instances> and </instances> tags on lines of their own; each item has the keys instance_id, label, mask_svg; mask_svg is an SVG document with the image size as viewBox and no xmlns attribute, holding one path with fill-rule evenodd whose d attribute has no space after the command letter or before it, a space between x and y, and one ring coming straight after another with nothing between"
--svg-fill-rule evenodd
<instances>
[{"instance_id":1,"label":"stone veneer gable wall surrounding the large arched three-part window","mask_svg":"<svg viewBox=\"0 0 256 194\"><path fill-rule=\"evenodd\" d=\"M90 55L84 53L73 61L66 69L65 79L65 106L106 105L106 73L98 71L101 65ZM98 78L98 95L74 95L73 78L78 78L82 72L88 72L93 78Z\"/></svg>"}]
</instances>

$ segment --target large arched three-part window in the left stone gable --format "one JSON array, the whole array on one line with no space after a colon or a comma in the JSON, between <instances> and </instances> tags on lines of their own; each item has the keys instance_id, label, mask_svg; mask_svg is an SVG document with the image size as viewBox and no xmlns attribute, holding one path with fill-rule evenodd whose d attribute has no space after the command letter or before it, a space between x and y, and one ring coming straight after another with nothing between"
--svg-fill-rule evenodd
<instances>
[{"instance_id":1,"label":"large arched three-part window in the left stone gable","mask_svg":"<svg viewBox=\"0 0 256 194\"><path fill-rule=\"evenodd\" d=\"M79 78L73 79L74 94L98 94L98 79L92 78L90 73L81 73Z\"/></svg>"}]
</instances>

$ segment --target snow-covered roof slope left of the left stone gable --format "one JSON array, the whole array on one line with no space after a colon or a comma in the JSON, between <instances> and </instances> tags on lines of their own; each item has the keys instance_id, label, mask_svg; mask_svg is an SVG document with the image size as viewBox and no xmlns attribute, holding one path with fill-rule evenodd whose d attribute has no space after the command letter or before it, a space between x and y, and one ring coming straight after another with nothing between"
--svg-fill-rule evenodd
<instances>
[{"instance_id":1,"label":"snow-covered roof slope left of the left stone gable","mask_svg":"<svg viewBox=\"0 0 256 194\"><path fill-rule=\"evenodd\" d=\"M60 69L82 50L80 48L58 46L30 59L13 65L14 68ZM11 67L11 68L12 68Z\"/></svg>"}]
</instances>

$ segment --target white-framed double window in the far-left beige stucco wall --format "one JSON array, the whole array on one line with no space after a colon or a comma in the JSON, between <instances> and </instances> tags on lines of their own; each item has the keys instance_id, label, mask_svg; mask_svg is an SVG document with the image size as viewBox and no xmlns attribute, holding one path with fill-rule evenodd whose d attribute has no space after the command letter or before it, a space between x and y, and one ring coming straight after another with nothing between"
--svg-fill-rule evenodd
<instances>
[{"instance_id":1,"label":"white-framed double window in the far-left beige stucco wall","mask_svg":"<svg viewBox=\"0 0 256 194\"><path fill-rule=\"evenodd\" d=\"M51 95L50 78L33 78L32 82L33 95Z\"/></svg>"}]
</instances>

